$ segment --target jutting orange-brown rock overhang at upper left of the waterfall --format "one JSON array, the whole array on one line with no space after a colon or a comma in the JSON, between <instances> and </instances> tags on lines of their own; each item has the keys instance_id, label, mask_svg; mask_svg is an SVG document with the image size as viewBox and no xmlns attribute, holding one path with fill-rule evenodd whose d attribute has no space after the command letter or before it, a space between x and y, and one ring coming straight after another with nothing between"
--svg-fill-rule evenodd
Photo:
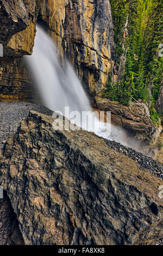
<instances>
[{"instance_id":1,"label":"jutting orange-brown rock overhang at upper left of the waterfall","mask_svg":"<svg viewBox=\"0 0 163 256\"><path fill-rule=\"evenodd\" d=\"M37 15L36 1L1 0L0 7L0 43L4 45L4 54L9 54L13 57L14 49L19 51L19 57L20 54L23 56L21 50L23 50L24 44L26 44L26 47L30 47L27 44L32 44L34 40L34 37L31 40L28 39L31 35L30 29L34 30L34 22ZM14 37L12 38L12 36ZM27 41L25 41L24 36L26 36ZM8 51L5 53L6 46L8 46Z\"/></svg>"}]
</instances>

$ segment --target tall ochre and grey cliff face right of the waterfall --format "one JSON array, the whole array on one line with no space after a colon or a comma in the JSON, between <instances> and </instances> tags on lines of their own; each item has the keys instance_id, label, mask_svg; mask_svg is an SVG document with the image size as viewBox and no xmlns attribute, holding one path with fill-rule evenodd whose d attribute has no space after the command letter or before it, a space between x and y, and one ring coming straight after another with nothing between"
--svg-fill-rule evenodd
<instances>
[{"instance_id":1,"label":"tall ochre and grey cliff face right of the waterfall","mask_svg":"<svg viewBox=\"0 0 163 256\"><path fill-rule=\"evenodd\" d=\"M46 10L51 10L51 16L47 19L43 8L42 20L54 39L58 35L59 51L68 57L85 88L97 94L110 71L113 33L109 0L61 2L48 1Z\"/></svg>"}]
</instances>

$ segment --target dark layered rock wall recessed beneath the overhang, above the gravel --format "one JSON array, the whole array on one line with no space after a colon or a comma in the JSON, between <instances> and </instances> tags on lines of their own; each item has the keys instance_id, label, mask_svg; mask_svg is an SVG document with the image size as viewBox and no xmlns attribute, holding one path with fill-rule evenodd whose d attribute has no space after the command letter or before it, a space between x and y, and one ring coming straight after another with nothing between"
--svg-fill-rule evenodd
<instances>
[{"instance_id":1,"label":"dark layered rock wall recessed beneath the overhang, above the gravel","mask_svg":"<svg viewBox=\"0 0 163 256\"><path fill-rule=\"evenodd\" d=\"M30 101L35 92L21 58L0 58L0 101Z\"/></svg>"}]
</instances>

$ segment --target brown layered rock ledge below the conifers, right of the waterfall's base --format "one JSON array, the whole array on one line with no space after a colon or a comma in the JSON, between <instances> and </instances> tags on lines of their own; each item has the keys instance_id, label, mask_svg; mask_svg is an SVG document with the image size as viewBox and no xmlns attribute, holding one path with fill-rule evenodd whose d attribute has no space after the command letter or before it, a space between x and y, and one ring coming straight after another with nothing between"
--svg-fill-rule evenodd
<instances>
[{"instance_id":1,"label":"brown layered rock ledge below the conifers, right of the waterfall's base","mask_svg":"<svg viewBox=\"0 0 163 256\"><path fill-rule=\"evenodd\" d=\"M160 136L162 126L157 127L152 123L148 108L140 103L131 103L127 107L109 99L96 97L95 106L104 111L111 111L112 121L139 139L153 143Z\"/></svg>"}]
</instances>

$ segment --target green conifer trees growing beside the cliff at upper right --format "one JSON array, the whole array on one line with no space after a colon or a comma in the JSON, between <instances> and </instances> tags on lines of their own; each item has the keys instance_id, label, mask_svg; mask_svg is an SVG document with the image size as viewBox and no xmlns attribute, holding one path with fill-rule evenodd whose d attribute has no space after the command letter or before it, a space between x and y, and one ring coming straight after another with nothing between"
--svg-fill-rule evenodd
<instances>
[{"instance_id":1,"label":"green conifer trees growing beside the cliff at upper right","mask_svg":"<svg viewBox=\"0 0 163 256\"><path fill-rule=\"evenodd\" d=\"M159 123L154 105L162 84L163 58L159 57L158 47L163 38L163 2L110 0L110 3L116 62L123 64L122 56L125 62L118 81L112 84L110 77L103 95L124 105L129 105L131 99L152 102L151 119Z\"/></svg>"}]
</instances>

